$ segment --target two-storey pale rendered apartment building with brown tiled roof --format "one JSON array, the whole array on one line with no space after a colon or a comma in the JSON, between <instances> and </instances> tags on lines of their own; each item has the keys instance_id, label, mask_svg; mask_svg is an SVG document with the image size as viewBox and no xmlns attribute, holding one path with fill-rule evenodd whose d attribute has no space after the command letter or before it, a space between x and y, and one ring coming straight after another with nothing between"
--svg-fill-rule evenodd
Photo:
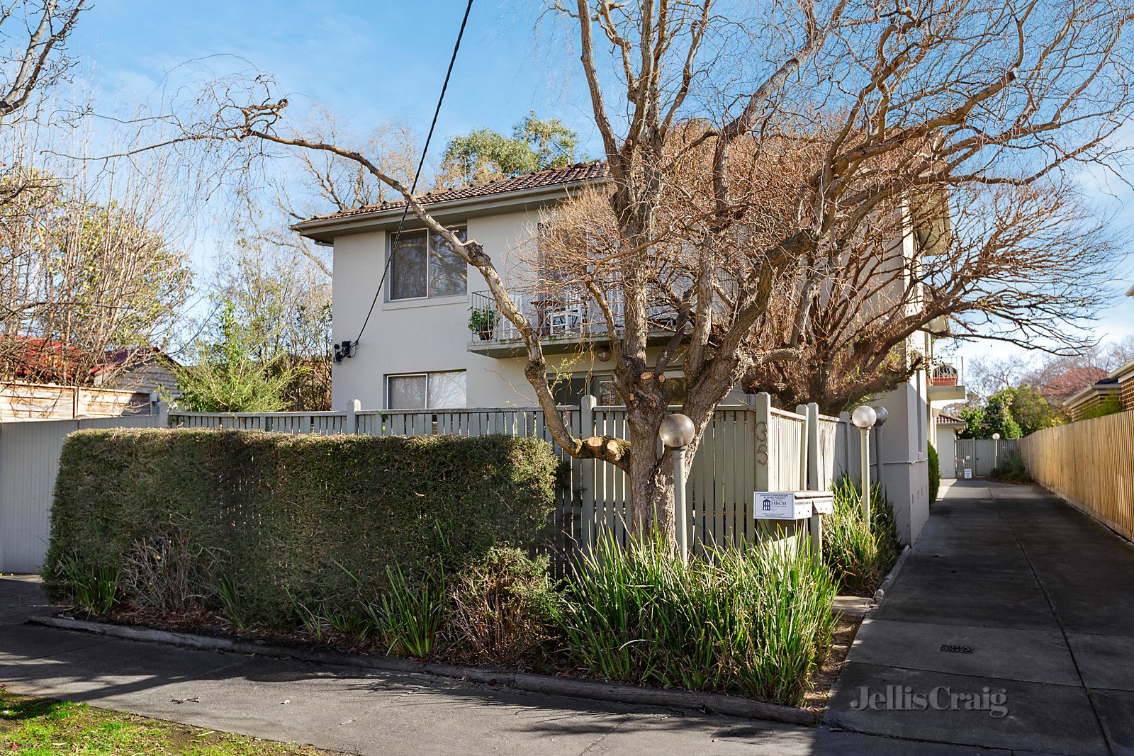
<instances>
[{"instance_id":1,"label":"two-storey pale rendered apartment building with brown tiled roof","mask_svg":"<svg viewBox=\"0 0 1134 756\"><path fill-rule=\"evenodd\" d=\"M541 334L559 404L576 404L586 393L600 404L618 404L607 324L596 305L578 292L533 286L541 278L533 266L540 264L536 239L543 213L604 178L601 163L581 163L421 197L434 218L475 238L492 257L514 301ZM333 246L333 340L352 347L332 368L332 408L346 409L354 399L366 409L391 410L536 404L524 376L523 342L497 314L481 274L423 230L412 213L404 215L405 205L390 202L294 227ZM911 230L883 254L908 260L916 255L914 237ZM907 291L907 283L899 277L895 286ZM611 304L617 321L619 303ZM670 317L663 307L651 314L659 345L669 338L665 326ZM674 399L680 401L679 365L669 377ZM879 402L890 413L878 447L879 467L891 499L911 502L898 513L907 542L928 517L925 444L936 430L930 407L934 400L964 397L957 383L920 372ZM727 401L746 399L735 390Z\"/></svg>"}]
</instances>

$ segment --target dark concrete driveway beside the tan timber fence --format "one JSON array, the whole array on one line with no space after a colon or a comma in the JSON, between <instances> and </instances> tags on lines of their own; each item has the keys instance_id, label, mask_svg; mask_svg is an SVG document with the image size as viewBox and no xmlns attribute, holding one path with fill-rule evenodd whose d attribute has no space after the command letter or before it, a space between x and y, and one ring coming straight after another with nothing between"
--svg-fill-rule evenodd
<instances>
[{"instance_id":1,"label":"dark concrete driveway beside the tan timber fence","mask_svg":"<svg viewBox=\"0 0 1134 756\"><path fill-rule=\"evenodd\" d=\"M962 481L863 622L826 721L898 738L1134 754L1132 646L1131 544L1041 489Z\"/></svg>"}]
</instances>

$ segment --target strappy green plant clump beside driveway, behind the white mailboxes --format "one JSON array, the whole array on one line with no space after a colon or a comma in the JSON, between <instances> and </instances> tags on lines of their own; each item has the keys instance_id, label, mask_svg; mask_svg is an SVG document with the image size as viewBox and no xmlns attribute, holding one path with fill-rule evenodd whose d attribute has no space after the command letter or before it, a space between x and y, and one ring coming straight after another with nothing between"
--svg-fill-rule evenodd
<instances>
[{"instance_id":1,"label":"strappy green plant clump beside driveway, behind the white mailboxes","mask_svg":"<svg viewBox=\"0 0 1134 756\"><path fill-rule=\"evenodd\" d=\"M844 477L833 486L835 511L823 518L823 562L844 591L870 594L902 551L897 521L880 484L871 486L871 527L862 515L858 485Z\"/></svg>"}]
</instances>

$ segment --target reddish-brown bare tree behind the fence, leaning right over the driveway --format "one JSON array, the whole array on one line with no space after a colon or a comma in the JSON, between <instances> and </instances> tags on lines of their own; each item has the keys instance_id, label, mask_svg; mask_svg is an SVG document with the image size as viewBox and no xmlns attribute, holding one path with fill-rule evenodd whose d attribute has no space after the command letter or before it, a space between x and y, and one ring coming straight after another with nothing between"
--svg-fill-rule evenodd
<instances>
[{"instance_id":1,"label":"reddish-brown bare tree behind the fence, leaning right over the driveway","mask_svg":"<svg viewBox=\"0 0 1134 756\"><path fill-rule=\"evenodd\" d=\"M881 219L871 224L823 277L802 358L751 368L745 390L769 391L786 407L814 401L837 414L932 367L931 356L909 340L934 328L936 335L1080 352L1081 326L1101 301L1116 244L1074 187L965 185L953 188L950 199L947 233L936 212L917 205L903 216L906 229ZM882 252L887 239L892 245L903 237L906 254ZM1022 372L1019 360L987 367L996 369L971 375L1002 381Z\"/></svg>"}]
</instances>

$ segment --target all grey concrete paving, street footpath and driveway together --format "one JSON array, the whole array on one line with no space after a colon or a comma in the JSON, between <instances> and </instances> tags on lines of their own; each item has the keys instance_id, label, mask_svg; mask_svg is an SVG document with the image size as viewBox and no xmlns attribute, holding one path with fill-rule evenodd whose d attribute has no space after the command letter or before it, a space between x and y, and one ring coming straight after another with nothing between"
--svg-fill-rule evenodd
<instances>
[{"instance_id":1,"label":"all grey concrete paving, street footpath and driveway together","mask_svg":"<svg viewBox=\"0 0 1134 756\"><path fill-rule=\"evenodd\" d=\"M1134 551L1038 493L955 486L934 506L818 728L32 626L49 610L32 578L0 579L0 683L355 754L1091 754L1107 737L1125 753ZM855 708L888 685L1005 688L1008 714Z\"/></svg>"}]
</instances>

